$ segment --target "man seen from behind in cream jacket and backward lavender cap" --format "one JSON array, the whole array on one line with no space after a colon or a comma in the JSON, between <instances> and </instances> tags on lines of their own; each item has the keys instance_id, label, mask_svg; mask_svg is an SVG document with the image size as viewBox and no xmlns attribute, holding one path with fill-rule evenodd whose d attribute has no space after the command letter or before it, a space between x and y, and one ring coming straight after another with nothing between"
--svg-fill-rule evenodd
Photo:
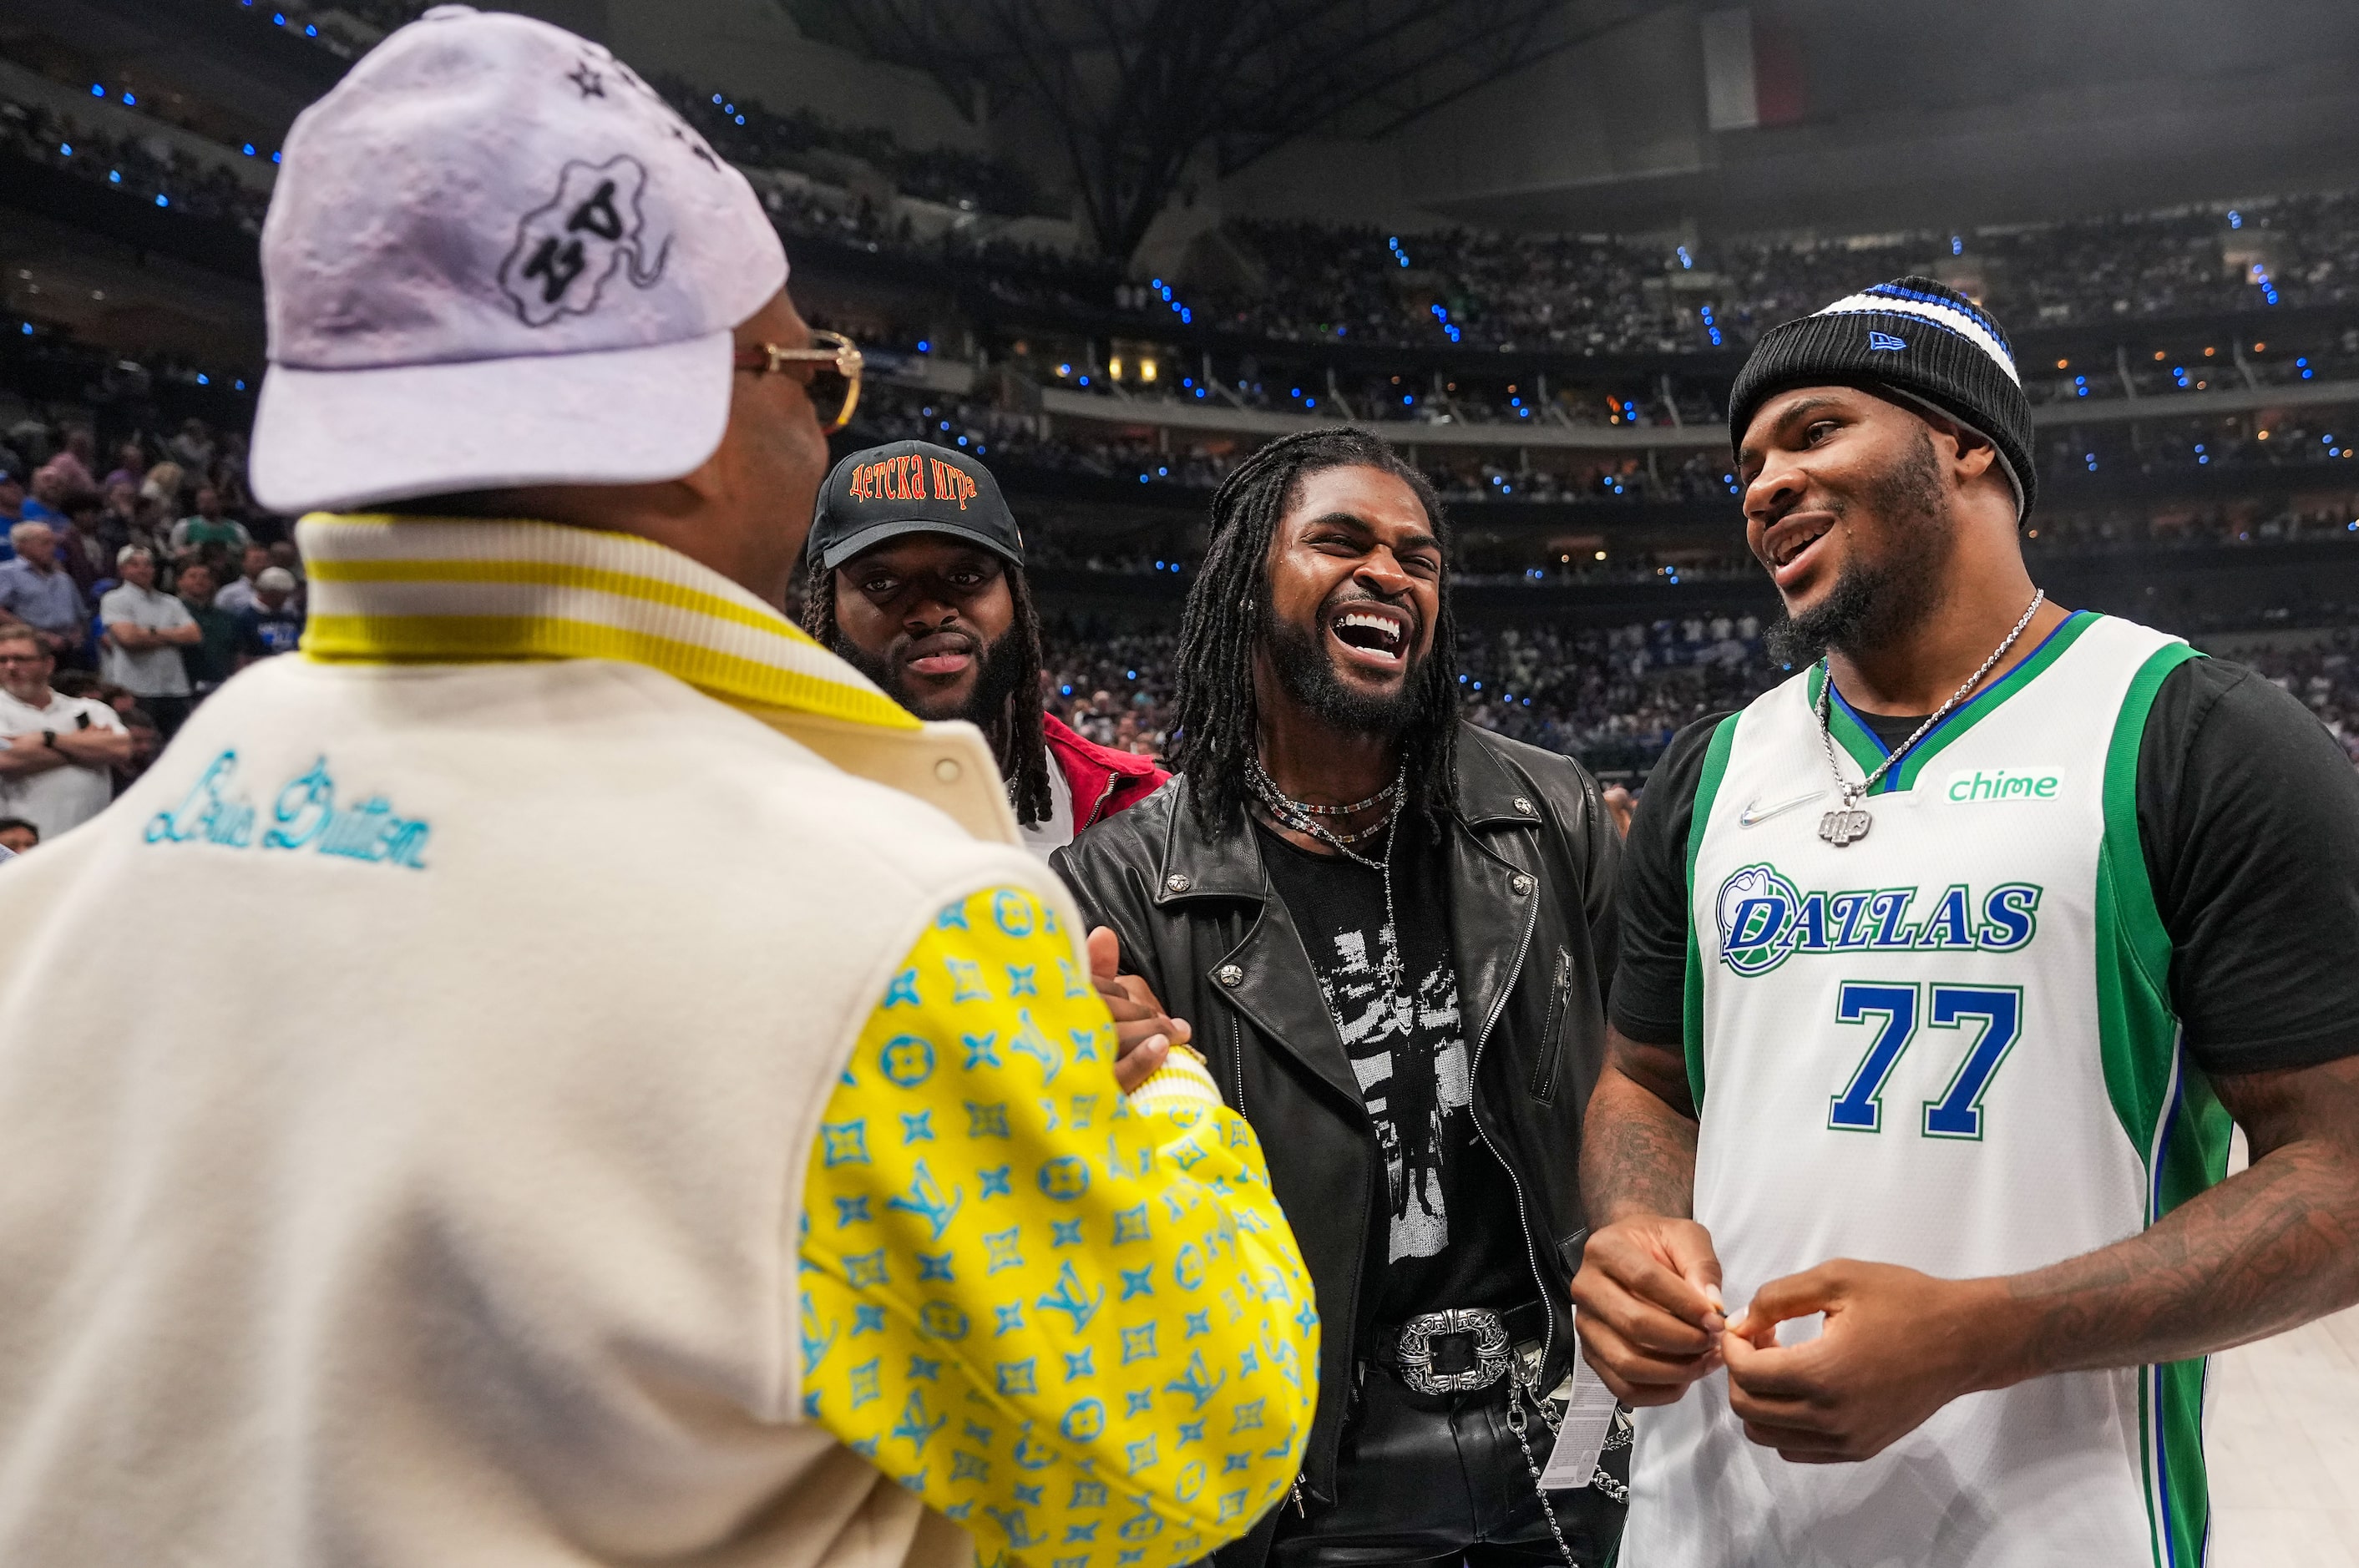
<instances>
[{"instance_id":1,"label":"man seen from behind in cream jacket and backward lavender cap","mask_svg":"<svg viewBox=\"0 0 2359 1568\"><path fill-rule=\"evenodd\" d=\"M0 884L0 1561L1241 1535L1302 1257L981 738L778 611L859 358L745 179L439 7L295 123L262 255L304 646ZM123 910L170 1012L75 962Z\"/></svg>"}]
</instances>

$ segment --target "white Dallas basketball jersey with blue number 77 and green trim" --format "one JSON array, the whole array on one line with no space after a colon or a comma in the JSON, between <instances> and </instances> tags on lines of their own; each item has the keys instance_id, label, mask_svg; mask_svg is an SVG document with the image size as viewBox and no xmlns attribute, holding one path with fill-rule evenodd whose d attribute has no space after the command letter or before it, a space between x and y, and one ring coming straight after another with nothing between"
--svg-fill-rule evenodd
<instances>
[{"instance_id":1,"label":"white Dallas basketball jersey with blue number 77 and green trim","mask_svg":"<svg viewBox=\"0 0 2359 1568\"><path fill-rule=\"evenodd\" d=\"M1689 837L1696 1219L1732 1311L1835 1257L1944 1278L2121 1240L2217 1181L2137 842L2137 745L2194 653L2074 615L1833 846L1816 667L1722 722ZM1885 747L1840 700L1847 778ZM1967 1394L1866 1464L1788 1464L1727 1372L1642 1410L1628 1568L2194 1568L2203 1363Z\"/></svg>"}]
</instances>

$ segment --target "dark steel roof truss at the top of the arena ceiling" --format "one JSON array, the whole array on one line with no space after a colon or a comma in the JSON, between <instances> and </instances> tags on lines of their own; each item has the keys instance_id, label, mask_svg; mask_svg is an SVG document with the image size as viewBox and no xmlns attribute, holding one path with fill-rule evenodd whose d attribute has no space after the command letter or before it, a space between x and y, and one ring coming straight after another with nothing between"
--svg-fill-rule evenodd
<instances>
[{"instance_id":1,"label":"dark steel roof truss at the top of the arena ceiling","mask_svg":"<svg viewBox=\"0 0 2359 1568\"><path fill-rule=\"evenodd\" d=\"M1231 174L1309 132L1373 141L1668 0L783 2L811 38L922 66L972 118L1031 104L1125 259L1203 151Z\"/></svg>"}]
</instances>

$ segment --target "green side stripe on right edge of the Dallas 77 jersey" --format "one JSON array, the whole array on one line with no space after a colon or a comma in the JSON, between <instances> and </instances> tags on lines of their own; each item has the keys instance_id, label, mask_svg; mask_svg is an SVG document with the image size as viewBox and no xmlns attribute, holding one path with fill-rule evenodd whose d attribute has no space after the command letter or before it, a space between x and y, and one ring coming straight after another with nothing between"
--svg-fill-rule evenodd
<instances>
[{"instance_id":1,"label":"green side stripe on right edge of the Dallas 77 jersey","mask_svg":"<svg viewBox=\"0 0 2359 1568\"><path fill-rule=\"evenodd\" d=\"M2210 1080L2184 1059L2170 1012L2170 934L2154 905L2137 837L2137 752L2163 677L2201 658L2158 648L2121 700L2104 757L2104 844L2097 851L2097 1035L2104 1087L2123 1137L2147 1170L2147 1224L2227 1174L2229 1115ZM2029 660L2026 660L2029 663ZM2210 1530L2203 1467L2206 1363L2175 1361L2140 1375L2147 1514L2156 1568L2194 1568Z\"/></svg>"}]
</instances>

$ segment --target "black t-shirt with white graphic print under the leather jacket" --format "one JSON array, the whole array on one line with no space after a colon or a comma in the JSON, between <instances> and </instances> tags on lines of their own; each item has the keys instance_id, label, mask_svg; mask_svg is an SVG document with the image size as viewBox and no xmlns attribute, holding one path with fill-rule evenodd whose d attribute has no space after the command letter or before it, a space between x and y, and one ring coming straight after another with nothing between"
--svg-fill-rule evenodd
<instances>
[{"instance_id":1,"label":"black t-shirt with white graphic print under the leather jacket","mask_svg":"<svg viewBox=\"0 0 2359 1568\"><path fill-rule=\"evenodd\" d=\"M1470 1108L1474 1063L1458 1016L1441 846L1404 835L1392 865L1394 941L1382 872L1314 856L1269 828L1260 835L1385 1155L1366 1271L1375 1320L1531 1299L1514 1186Z\"/></svg>"}]
</instances>

